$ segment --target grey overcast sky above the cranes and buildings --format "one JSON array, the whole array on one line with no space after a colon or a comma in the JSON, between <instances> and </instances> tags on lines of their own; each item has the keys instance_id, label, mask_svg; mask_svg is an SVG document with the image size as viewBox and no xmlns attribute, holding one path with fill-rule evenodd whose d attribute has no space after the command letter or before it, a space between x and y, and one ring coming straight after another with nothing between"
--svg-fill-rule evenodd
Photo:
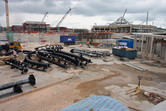
<instances>
[{"instance_id":1,"label":"grey overcast sky above the cranes and buildings","mask_svg":"<svg viewBox=\"0 0 166 111\"><path fill-rule=\"evenodd\" d=\"M25 21L41 21L56 26L73 8L60 26L88 28L94 24L106 25L121 17L127 9L125 19L134 24L145 24L149 11L149 24L166 28L166 0L8 0L10 25L21 25ZM0 25L6 26L5 2L0 0Z\"/></svg>"}]
</instances>

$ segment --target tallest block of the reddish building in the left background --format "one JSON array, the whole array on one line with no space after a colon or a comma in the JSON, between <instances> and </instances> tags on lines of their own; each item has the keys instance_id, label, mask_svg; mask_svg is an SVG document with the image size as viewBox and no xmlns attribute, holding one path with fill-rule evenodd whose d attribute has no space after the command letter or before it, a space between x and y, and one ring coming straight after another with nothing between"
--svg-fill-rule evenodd
<instances>
[{"instance_id":1,"label":"tallest block of the reddish building in the left background","mask_svg":"<svg viewBox=\"0 0 166 111\"><path fill-rule=\"evenodd\" d=\"M47 32L49 26L46 22L27 21L23 23L23 30L27 32Z\"/></svg>"}]
</instances>

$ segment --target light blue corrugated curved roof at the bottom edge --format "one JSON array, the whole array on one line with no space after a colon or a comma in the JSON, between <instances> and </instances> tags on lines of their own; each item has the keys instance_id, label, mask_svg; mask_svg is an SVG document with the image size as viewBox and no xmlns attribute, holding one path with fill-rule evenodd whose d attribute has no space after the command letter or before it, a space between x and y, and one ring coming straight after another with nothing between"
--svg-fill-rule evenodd
<instances>
[{"instance_id":1,"label":"light blue corrugated curved roof at the bottom edge","mask_svg":"<svg viewBox=\"0 0 166 111\"><path fill-rule=\"evenodd\" d=\"M116 99L107 96L90 96L59 111L129 111Z\"/></svg>"}]
</instances>

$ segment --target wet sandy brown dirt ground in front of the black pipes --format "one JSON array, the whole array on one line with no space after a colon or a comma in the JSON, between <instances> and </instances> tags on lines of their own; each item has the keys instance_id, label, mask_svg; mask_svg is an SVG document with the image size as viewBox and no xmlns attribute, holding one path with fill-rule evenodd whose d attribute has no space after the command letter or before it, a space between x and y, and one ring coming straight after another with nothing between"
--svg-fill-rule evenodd
<instances>
[{"instance_id":1,"label":"wet sandy brown dirt ground in front of the black pipes","mask_svg":"<svg viewBox=\"0 0 166 111\"><path fill-rule=\"evenodd\" d=\"M28 46L27 49L31 49L36 45L32 46L28 44ZM69 51L71 48L75 47L78 46L65 47L64 50ZM83 49L87 48L83 47ZM90 50L100 49L91 48ZM101 50L110 51L110 49ZM66 73L68 75L67 77L70 77L70 79L59 82L58 84L48 85L48 87L40 88L39 90L15 98L9 97L7 99L1 99L0 111L58 111L78 100L92 95L109 96L117 99L126 107L130 106L145 111L152 108L154 104L149 102L142 93L132 97L126 94L129 89L137 86L138 75L143 76L141 80L141 90L166 96L165 67L152 67L141 64L139 60L131 60L130 62L137 63L148 69L148 71L139 71L123 65L122 63L125 61L120 61L113 55L104 58L108 60L108 62L104 62L103 58L91 59L93 63L89 64L85 69L56 69L46 72L63 72ZM1 73L3 73L3 71ZM53 81L53 79L49 79L49 81Z\"/></svg>"}]
</instances>

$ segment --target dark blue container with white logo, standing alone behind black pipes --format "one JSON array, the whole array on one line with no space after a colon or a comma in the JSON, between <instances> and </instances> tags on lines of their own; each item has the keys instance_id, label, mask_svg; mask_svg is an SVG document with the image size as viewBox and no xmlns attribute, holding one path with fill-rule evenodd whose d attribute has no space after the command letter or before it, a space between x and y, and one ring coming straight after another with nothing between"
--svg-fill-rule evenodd
<instances>
[{"instance_id":1,"label":"dark blue container with white logo, standing alone behind black pipes","mask_svg":"<svg viewBox=\"0 0 166 111\"><path fill-rule=\"evenodd\" d=\"M60 36L60 42L62 43L75 43L75 36Z\"/></svg>"}]
</instances>

